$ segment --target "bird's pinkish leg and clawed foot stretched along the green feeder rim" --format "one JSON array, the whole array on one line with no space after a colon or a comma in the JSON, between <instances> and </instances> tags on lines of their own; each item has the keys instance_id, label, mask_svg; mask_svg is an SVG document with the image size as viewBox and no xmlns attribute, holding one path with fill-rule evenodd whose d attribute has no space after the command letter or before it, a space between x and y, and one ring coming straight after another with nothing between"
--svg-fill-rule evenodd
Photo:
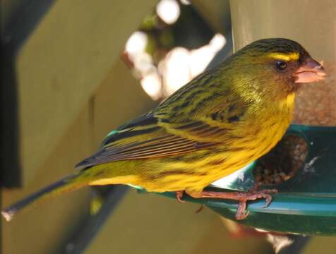
<instances>
[{"instance_id":1,"label":"bird's pinkish leg and clawed foot stretched along the green feeder rim","mask_svg":"<svg viewBox=\"0 0 336 254\"><path fill-rule=\"evenodd\" d=\"M188 193L193 198L222 198L228 200L237 200L239 201L238 209L236 212L236 219L241 220L245 219L248 216L246 212L246 202L248 200L256 200L259 198L265 198L266 204L264 207L268 207L272 201L272 195L277 193L277 190L261 190L256 191L254 188L252 191L248 192L216 192L216 191L202 191L200 193Z\"/></svg>"}]
</instances>

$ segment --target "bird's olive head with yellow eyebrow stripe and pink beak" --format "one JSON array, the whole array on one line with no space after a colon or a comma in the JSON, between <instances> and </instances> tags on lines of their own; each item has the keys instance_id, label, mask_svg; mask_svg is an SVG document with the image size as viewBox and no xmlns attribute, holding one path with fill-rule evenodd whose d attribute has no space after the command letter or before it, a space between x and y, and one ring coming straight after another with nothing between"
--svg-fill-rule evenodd
<instances>
[{"instance_id":1,"label":"bird's olive head with yellow eyebrow stripe and pink beak","mask_svg":"<svg viewBox=\"0 0 336 254\"><path fill-rule=\"evenodd\" d=\"M236 82L270 99L286 97L302 83L323 80L325 71L299 43L283 38L248 44L232 56ZM240 80L240 81L238 81Z\"/></svg>"}]
</instances>

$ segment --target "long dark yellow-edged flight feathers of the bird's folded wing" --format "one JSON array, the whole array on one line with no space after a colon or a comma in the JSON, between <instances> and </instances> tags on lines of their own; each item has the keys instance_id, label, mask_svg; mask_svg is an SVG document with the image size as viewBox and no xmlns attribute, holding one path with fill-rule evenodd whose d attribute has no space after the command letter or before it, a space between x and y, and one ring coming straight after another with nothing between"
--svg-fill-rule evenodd
<instances>
[{"instance_id":1,"label":"long dark yellow-edged flight feathers of the bird's folded wing","mask_svg":"<svg viewBox=\"0 0 336 254\"><path fill-rule=\"evenodd\" d=\"M202 140L185 135L175 135L167 128L169 123L164 123L164 126L160 124L160 119L152 113L140 116L112 131L103 141L101 149L92 157L77 164L76 167L83 169L124 159L169 157L217 145L217 143L202 142ZM191 131L191 133L199 133L203 136L220 131L201 121L174 124L174 126L177 132Z\"/></svg>"}]
</instances>

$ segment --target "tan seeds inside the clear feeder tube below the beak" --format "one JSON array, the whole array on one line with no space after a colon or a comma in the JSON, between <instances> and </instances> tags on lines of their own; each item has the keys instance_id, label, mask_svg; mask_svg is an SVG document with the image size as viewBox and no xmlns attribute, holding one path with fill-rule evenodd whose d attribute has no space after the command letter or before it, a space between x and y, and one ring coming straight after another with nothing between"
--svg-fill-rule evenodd
<instances>
[{"instance_id":1,"label":"tan seeds inside the clear feeder tube below the beak","mask_svg":"<svg viewBox=\"0 0 336 254\"><path fill-rule=\"evenodd\" d=\"M297 92L294 123L336 126L336 63L324 63L323 66L327 78L304 84Z\"/></svg>"}]
</instances>

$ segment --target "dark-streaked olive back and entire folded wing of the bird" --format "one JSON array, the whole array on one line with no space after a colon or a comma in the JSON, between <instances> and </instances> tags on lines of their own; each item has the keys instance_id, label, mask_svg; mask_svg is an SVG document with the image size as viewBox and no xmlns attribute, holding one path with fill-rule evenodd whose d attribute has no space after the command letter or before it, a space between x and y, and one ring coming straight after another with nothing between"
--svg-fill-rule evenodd
<instances>
[{"instance_id":1,"label":"dark-streaked olive back and entire folded wing of the bird","mask_svg":"<svg viewBox=\"0 0 336 254\"><path fill-rule=\"evenodd\" d=\"M112 131L101 149L76 167L169 157L227 143L232 135L226 133L244 118L244 105L228 97L229 85L214 82L213 75L199 75L150 113Z\"/></svg>"}]
</instances>

